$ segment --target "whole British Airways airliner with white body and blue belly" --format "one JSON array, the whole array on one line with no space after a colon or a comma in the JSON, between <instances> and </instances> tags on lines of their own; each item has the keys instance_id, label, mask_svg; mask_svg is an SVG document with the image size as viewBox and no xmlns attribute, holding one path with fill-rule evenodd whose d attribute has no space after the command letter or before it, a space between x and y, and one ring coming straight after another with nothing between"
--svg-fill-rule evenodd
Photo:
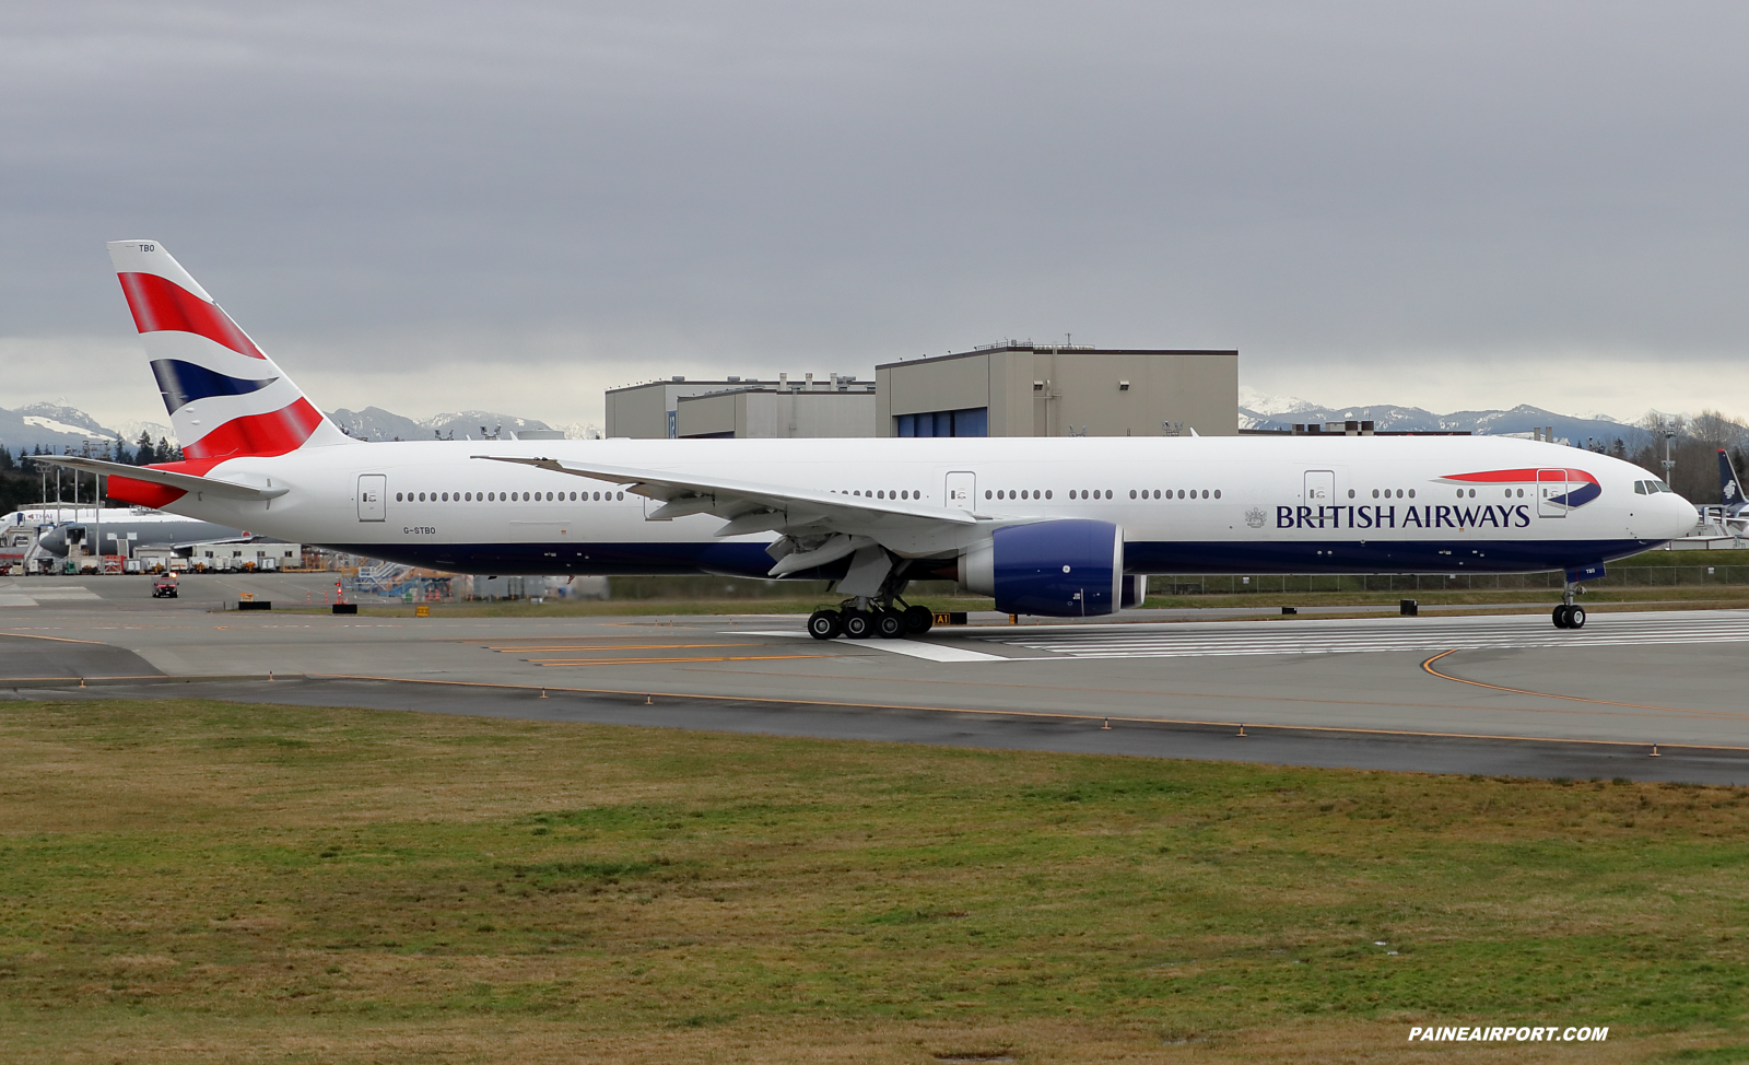
<instances>
[{"instance_id":1,"label":"whole British Airways airliner with white body and blue belly","mask_svg":"<svg viewBox=\"0 0 1749 1065\"><path fill-rule=\"evenodd\" d=\"M112 498L462 574L834 581L822 640L897 638L953 579L1006 614L1098 617L1146 574L1564 570L1684 535L1646 470L1506 437L897 437L364 442L154 240L108 245L182 462L44 456Z\"/></svg>"}]
</instances>

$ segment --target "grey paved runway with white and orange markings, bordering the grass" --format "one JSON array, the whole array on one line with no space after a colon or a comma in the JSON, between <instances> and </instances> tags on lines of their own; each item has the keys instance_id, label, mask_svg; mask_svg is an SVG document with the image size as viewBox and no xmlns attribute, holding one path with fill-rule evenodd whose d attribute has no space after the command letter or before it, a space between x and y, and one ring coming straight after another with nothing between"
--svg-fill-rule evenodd
<instances>
[{"instance_id":1,"label":"grey paved runway with white and orange markings, bordering the grass","mask_svg":"<svg viewBox=\"0 0 1749 1065\"><path fill-rule=\"evenodd\" d=\"M0 684L17 686L17 698L203 694L1749 783L1742 610L1593 614L1578 633L1525 616L1301 617L988 624L822 644L789 616L374 619L150 607L38 602L0 614Z\"/></svg>"}]
</instances>

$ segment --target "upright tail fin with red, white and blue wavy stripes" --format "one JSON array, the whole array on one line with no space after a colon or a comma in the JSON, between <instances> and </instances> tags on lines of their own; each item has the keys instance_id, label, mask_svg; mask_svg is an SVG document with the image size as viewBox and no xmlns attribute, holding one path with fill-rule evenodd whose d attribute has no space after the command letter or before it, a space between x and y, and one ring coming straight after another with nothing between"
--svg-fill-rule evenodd
<instances>
[{"instance_id":1,"label":"upright tail fin with red, white and blue wavy stripes","mask_svg":"<svg viewBox=\"0 0 1749 1065\"><path fill-rule=\"evenodd\" d=\"M352 442L164 245L119 240L108 252L191 472L245 455Z\"/></svg>"}]
</instances>

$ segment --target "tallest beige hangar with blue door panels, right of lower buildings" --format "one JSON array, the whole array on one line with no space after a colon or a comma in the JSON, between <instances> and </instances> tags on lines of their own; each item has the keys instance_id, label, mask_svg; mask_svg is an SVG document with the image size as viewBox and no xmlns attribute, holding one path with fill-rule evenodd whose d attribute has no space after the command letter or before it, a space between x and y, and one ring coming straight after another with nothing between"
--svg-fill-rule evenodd
<instances>
[{"instance_id":1,"label":"tallest beige hangar with blue door panels, right of lower buildings","mask_svg":"<svg viewBox=\"0 0 1749 1065\"><path fill-rule=\"evenodd\" d=\"M1238 352L1006 343L874 367L874 434L1238 435Z\"/></svg>"}]
</instances>

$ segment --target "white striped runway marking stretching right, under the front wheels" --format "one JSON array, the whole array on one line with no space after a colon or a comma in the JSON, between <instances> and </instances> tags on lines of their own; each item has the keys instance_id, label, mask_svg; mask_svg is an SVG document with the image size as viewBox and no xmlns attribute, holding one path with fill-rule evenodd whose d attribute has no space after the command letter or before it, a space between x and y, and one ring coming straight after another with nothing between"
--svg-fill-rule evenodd
<instances>
[{"instance_id":1,"label":"white striped runway marking stretching right, under the front wheels","mask_svg":"<svg viewBox=\"0 0 1749 1065\"><path fill-rule=\"evenodd\" d=\"M964 630L962 630L964 631ZM1485 647L1627 647L1749 644L1749 612L1592 614L1579 631L1546 616L1403 617L1392 621L1214 621L1051 626L976 638L1063 658L1196 658L1223 654L1364 654ZM1034 659L1037 661L1037 659Z\"/></svg>"}]
</instances>

